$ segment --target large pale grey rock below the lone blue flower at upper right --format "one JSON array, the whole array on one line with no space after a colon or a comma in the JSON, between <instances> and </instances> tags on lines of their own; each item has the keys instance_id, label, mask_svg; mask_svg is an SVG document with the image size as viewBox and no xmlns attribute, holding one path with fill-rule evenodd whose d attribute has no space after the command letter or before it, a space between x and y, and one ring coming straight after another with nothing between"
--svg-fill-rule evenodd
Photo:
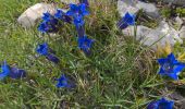
<instances>
[{"instance_id":1,"label":"large pale grey rock below the lone blue flower at upper right","mask_svg":"<svg viewBox=\"0 0 185 109\"><path fill-rule=\"evenodd\" d=\"M134 27L127 27L123 31L123 34L134 36ZM155 50L157 50L158 46L165 47L166 43L169 43L171 47L173 47L177 41L183 43L178 36L178 32L170 27L169 24L163 21L155 29L141 25L137 26L137 33L135 37L140 41L140 44L149 47L151 46L151 48Z\"/></svg>"}]
</instances>

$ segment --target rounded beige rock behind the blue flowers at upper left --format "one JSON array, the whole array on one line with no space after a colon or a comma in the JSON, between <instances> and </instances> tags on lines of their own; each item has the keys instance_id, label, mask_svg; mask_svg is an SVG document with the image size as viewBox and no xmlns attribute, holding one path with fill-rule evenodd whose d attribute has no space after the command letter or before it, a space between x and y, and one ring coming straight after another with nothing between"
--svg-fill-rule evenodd
<instances>
[{"instance_id":1,"label":"rounded beige rock behind the blue flowers at upper left","mask_svg":"<svg viewBox=\"0 0 185 109\"><path fill-rule=\"evenodd\" d=\"M23 27L34 26L36 21L41 19L42 13L49 12L51 14L55 13L55 7L53 4L37 3L28 8L18 19L17 22Z\"/></svg>"}]
</instances>

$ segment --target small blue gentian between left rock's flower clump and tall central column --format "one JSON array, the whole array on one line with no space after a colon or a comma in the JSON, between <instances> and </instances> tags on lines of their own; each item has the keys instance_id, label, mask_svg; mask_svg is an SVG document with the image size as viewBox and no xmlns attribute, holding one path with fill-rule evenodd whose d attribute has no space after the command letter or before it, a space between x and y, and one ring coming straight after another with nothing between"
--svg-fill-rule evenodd
<instances>
[{"instance_id":1,"label":"small blue gentian between left rock's flower clump and tall central column","mask_svg":"<svg viewBox=\"0 0 185 109\"><path fill-rule=\"evenodd\" d=\"M67 23L71 23L72 21L72 19L69 15L66 15L61 9L57 10L54 17L62 20L63 22L67 22Z\"/></svg>"}]
</instances>

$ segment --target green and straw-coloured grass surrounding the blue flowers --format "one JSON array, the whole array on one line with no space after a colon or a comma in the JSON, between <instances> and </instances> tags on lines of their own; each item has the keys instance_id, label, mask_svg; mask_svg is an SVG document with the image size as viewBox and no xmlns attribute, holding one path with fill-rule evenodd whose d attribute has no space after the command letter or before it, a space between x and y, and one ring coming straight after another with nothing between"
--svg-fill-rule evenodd
<instances>
[{"instance_id":1,"label":"green and straw-coloured grass surrounding the blue flowers","mask_svg":"<svg viewBox=\"0 0 185 109\"><path fill-rule=\"evenodd\" d=\"M97 2L98 1L98 2ZM16 19L39 0L0 0L0 60L27 71L27 77L0 82L2 109L123 108L144 109L171 84L157 74L155 52L115 27L115 1L90 2L86 34L96 40L90 56L78 50L76 32L64 25L57 35L41 35L36 26L22 28ZM38 57L47 41L61 59L59 65ZM57 88L54 78L66 74L76 88Z\"/></svg>"}]
</instances>

